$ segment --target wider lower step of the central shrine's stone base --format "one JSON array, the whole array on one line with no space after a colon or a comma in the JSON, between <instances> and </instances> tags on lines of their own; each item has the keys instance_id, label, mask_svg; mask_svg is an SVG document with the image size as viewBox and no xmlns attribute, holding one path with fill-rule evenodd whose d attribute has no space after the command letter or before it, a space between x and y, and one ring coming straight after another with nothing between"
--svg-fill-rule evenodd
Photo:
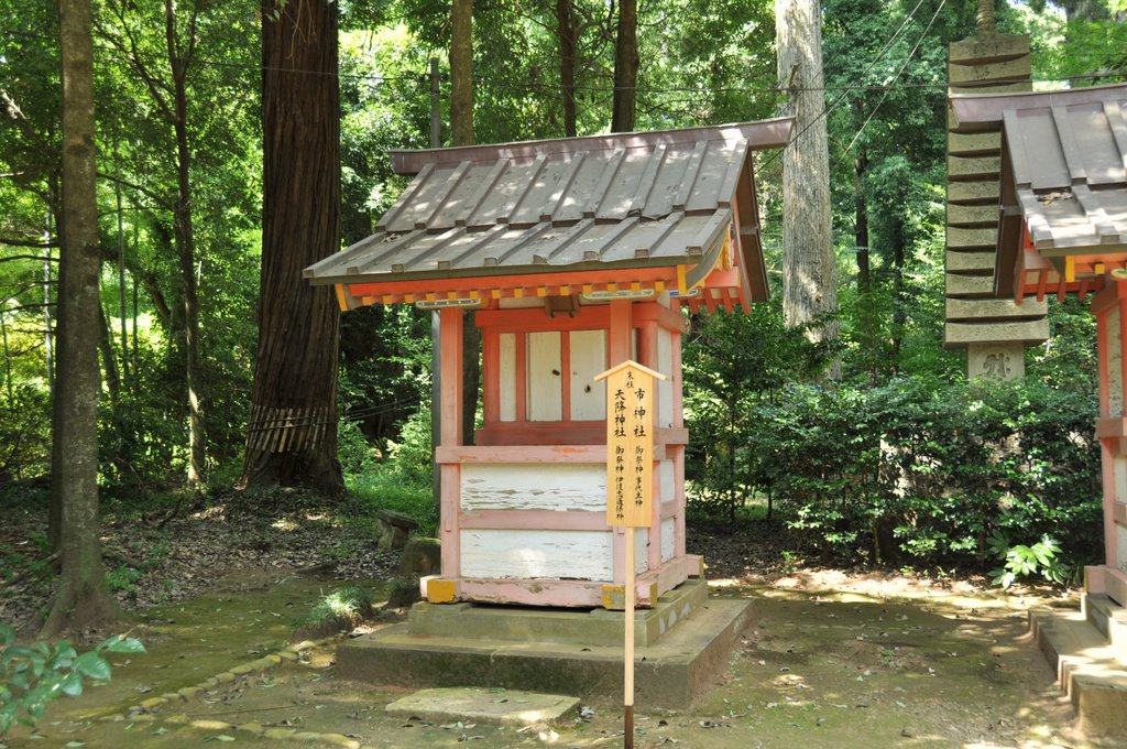
<instances>
[{"instance_id":1,"label":"wider lower step of the central shrine's stone base","mask_svg":"<svg viewBox=\"0 0 1127 749\"><path fill-rule=\"evenodd\" d=\"M710 598L655 644L635 651L637 704L680 710L711 687L752 622L749 599ZM411 635L396 625L337 647L337 675L369 684L504 687L621 699L622 646Z\"/></svg>"}]
</instances>

